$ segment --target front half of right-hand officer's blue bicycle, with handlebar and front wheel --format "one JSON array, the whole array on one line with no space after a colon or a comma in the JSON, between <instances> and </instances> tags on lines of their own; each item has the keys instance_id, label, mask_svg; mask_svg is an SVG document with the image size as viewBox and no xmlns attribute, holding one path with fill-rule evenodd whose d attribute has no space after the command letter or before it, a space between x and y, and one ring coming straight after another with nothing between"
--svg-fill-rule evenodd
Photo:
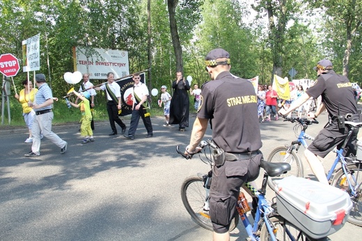
<instances>
[{"instance_id":1,"label":"front half of right-hand officer's blue bicycle, with handlebar and front wheel","mask_svg":"<svg viewBox=\"0 0 362 241\"><path fill-rule=\"evenodd\" d=\"M272 153L269 154L269 157L267 159L268 162L285 162L290 164L291 166L291 171L288 171L288 173L268 179L268 185L272 189L275 188L274 182L276 180L281 180L282 178L285 178L287 176L297 176L301 178L304 177L303 163L299 158L299 156L297 155L297 153L302 145L304 146L304 148L308 147L306 139L311 141L314 140L313 137L310 137L308 134L306 134L308 125L312 125L313 123L315 124L319 123L315 119L310 120L307 118L296 118L296 117L285 117L284 121L290 121L291 123L296 123L296 125L294 125L293 127L294 133L297 134L300 128L301 130L299 132L296 141L292 141L292 143L290 143L289 146L288 145L278 146L274 148L274 150L272 150Z\"/></svg>"}]
</instances>

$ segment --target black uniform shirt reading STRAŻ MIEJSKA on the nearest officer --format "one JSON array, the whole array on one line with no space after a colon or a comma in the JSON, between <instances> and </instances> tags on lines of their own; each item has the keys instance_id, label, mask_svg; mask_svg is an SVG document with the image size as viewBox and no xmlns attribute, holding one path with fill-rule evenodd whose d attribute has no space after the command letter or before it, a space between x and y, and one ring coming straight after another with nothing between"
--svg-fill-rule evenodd
<instances>
[{"instance_id":1,"label":"black uniform shirt reading STRA\u017b MIEJSKA on the nearest officer","mask_svg":"<svg viewBox=\"0 0 362 241\"><path fill-rule=\"evenodd\" d=\"M246 153L262 147L258 104L253 84L221 72L201 89L198 118L210 119L212 139L229 153Z\"/></svg>"}]
</instances>

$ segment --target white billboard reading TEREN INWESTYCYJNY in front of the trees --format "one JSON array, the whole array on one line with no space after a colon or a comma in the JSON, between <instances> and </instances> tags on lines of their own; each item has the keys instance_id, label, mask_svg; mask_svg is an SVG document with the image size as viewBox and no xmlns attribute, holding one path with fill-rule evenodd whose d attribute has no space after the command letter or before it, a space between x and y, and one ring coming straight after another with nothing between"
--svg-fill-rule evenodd
<instances>
[{"instance_id":1,"label":"white billboard reading TEREN INWESTYCYJNY in front of the trees","mask_svg":"<svg viewBox=\"0 0 362 241\"><path fill-rule=\"evenodd\" d=\"M107 79L113 72L114 79L129 75L128 52L93 47L73 47L74 71L89 73L89 79Z\"/></svg>"}]
</instances>

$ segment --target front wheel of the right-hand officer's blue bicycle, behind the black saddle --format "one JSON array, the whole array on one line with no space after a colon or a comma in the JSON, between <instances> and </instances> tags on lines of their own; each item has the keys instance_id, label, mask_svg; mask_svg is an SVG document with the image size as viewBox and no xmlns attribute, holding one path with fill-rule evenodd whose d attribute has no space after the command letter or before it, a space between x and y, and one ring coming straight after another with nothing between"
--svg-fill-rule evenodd
<instances>
[{"instance_id":1,"label":"front wheel of the right-hand officer's blue bicycle, behind the black saddle","mask_svg":"<svg viewBox=\"0 0 362 241\"><path fill-rule=\"evenodd\" d=\"M274 182L276 180L281 180L287 176L297 176L301 178L304 177L303 164L299 156L297 155L297 153L295 153L295 150L292 150L292 153L288 153L287 150L288 147L279 146L272 150L272 153L270 153L268 157L268 162L287 162L290 164L290 171L288 171L288 173L276 177L269 176L268 185L273 190L275 190Z\"/></svg>"}]
</instances>

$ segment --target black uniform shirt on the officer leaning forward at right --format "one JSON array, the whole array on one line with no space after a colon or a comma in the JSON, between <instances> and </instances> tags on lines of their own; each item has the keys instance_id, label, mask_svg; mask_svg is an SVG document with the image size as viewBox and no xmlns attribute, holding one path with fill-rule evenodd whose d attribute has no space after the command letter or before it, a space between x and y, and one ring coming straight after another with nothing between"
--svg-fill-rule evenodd
<instances>
[{"instance_id":1,"label":"black uniform shirt on the officer leaning forward at right","mask_svg":"<svg viewBox=\"0 0 362 241\"><path fill-rule=\"evenodd\" d=\"M357 113L351 82L333 70L320 75L306 93L313 98L322 95L322 102L331 117L338 116L338 107L340 115Z\"/></svg>"}]
</instances>

